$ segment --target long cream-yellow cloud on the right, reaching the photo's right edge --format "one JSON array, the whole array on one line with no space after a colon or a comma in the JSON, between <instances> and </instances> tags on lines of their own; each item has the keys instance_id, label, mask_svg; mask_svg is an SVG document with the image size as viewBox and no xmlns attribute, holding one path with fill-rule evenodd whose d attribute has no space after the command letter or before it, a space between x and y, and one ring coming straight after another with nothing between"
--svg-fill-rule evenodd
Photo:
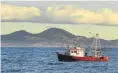
<instances>
[{"instance_id":1,"label":"long cream-yellow cloud on the right, reaching the photo's right edge","mask_svg":"<svg viewBox=\"0 0 118 73\"><path fill-rule=\"evenodd\" d=\"M103 8L98 11L90 11L74 8L71 5L65 5L60 7L48 7L47 13L55 20L69 20L77 24L118 24L118 12L113 12L108 8Z\"/></svg>"}]
</instances>

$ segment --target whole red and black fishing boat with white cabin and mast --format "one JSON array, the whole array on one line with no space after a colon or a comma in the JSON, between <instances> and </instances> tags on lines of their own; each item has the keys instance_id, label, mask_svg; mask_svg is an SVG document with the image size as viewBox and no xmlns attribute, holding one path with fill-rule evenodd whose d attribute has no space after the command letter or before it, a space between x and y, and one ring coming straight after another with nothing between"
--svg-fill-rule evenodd
<instances>
[{"instance_id":1,"label":"whole red and black fishing boat with white cabin and mast","mask_svg":"<svg viewBox=\"0 0 118 73\"><path fill-rule=\"evenodd\" d=\"M100 39L98 38L98 34L93 39L92 46L89 51L90 55L88 55L88 52L85 52L85 49L74 45L74 46L68 46L66 48L66 51L64 54L61 54L59 52L56 52L58 60L64 61L64 62L70 62L70 61L94 61L94 62L107 62L108 56L103 56L101 52L101 45L100 45Z\"/></svg>"}]
</instances>

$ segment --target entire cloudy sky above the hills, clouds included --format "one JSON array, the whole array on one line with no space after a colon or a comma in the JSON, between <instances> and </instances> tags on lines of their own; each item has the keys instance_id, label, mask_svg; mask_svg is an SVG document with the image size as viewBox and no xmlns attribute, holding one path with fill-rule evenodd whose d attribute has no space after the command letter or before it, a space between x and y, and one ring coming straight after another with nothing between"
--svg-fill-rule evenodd
<instances>
[{"instance_id":1,"label":"entire cloudy sky above the hills, clouds included","mask_svg":"<svg viewBox=\"0 0 118 73\"><path fill-rule=\"evenodd\" d=\"M2 1L1 35L19 30L40 33L61 28L106 40L118 39L118 1Z\"/></svg>"}]
</instances>

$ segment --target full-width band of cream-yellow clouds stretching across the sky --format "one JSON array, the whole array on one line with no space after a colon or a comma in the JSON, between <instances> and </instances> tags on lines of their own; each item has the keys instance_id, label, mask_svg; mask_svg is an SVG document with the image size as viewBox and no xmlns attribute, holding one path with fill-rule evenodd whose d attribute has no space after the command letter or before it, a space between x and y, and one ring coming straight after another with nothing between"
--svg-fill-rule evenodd
<instances>
[{"instance_id":1,"label":"full-width band of cream-yellow clouds stretching across the sky","mask_svg":"<svg viewBox=\"0 0 118 73\"><path fill-rule=\"evenodd\" d=\"M56 24L99 24L118 25L118 12L108 8L90 11L72 5L36 7L2 4L2 21L39 22Z\"/></svg>"}]
</instances>

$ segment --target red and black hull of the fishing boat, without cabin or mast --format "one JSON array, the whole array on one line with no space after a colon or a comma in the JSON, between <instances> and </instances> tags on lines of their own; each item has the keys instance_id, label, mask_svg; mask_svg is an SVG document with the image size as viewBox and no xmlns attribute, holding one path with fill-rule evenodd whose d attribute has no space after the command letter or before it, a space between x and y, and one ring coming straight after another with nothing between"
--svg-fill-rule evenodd
<instances>
[{"instance_id":1,"label":"red and black hull of the fishing boat, without cabin or mast","mask_svg":"<svg viewBox=\"0 0 118 73\"><path fill-rule=\"evenodd\" d=\"M92 56L84 56L84 57L75 57L75 56L68 56L57 53L59 61L108 61L107 56L103 57L92 57Z\"/></svg>"}]
</instances>

